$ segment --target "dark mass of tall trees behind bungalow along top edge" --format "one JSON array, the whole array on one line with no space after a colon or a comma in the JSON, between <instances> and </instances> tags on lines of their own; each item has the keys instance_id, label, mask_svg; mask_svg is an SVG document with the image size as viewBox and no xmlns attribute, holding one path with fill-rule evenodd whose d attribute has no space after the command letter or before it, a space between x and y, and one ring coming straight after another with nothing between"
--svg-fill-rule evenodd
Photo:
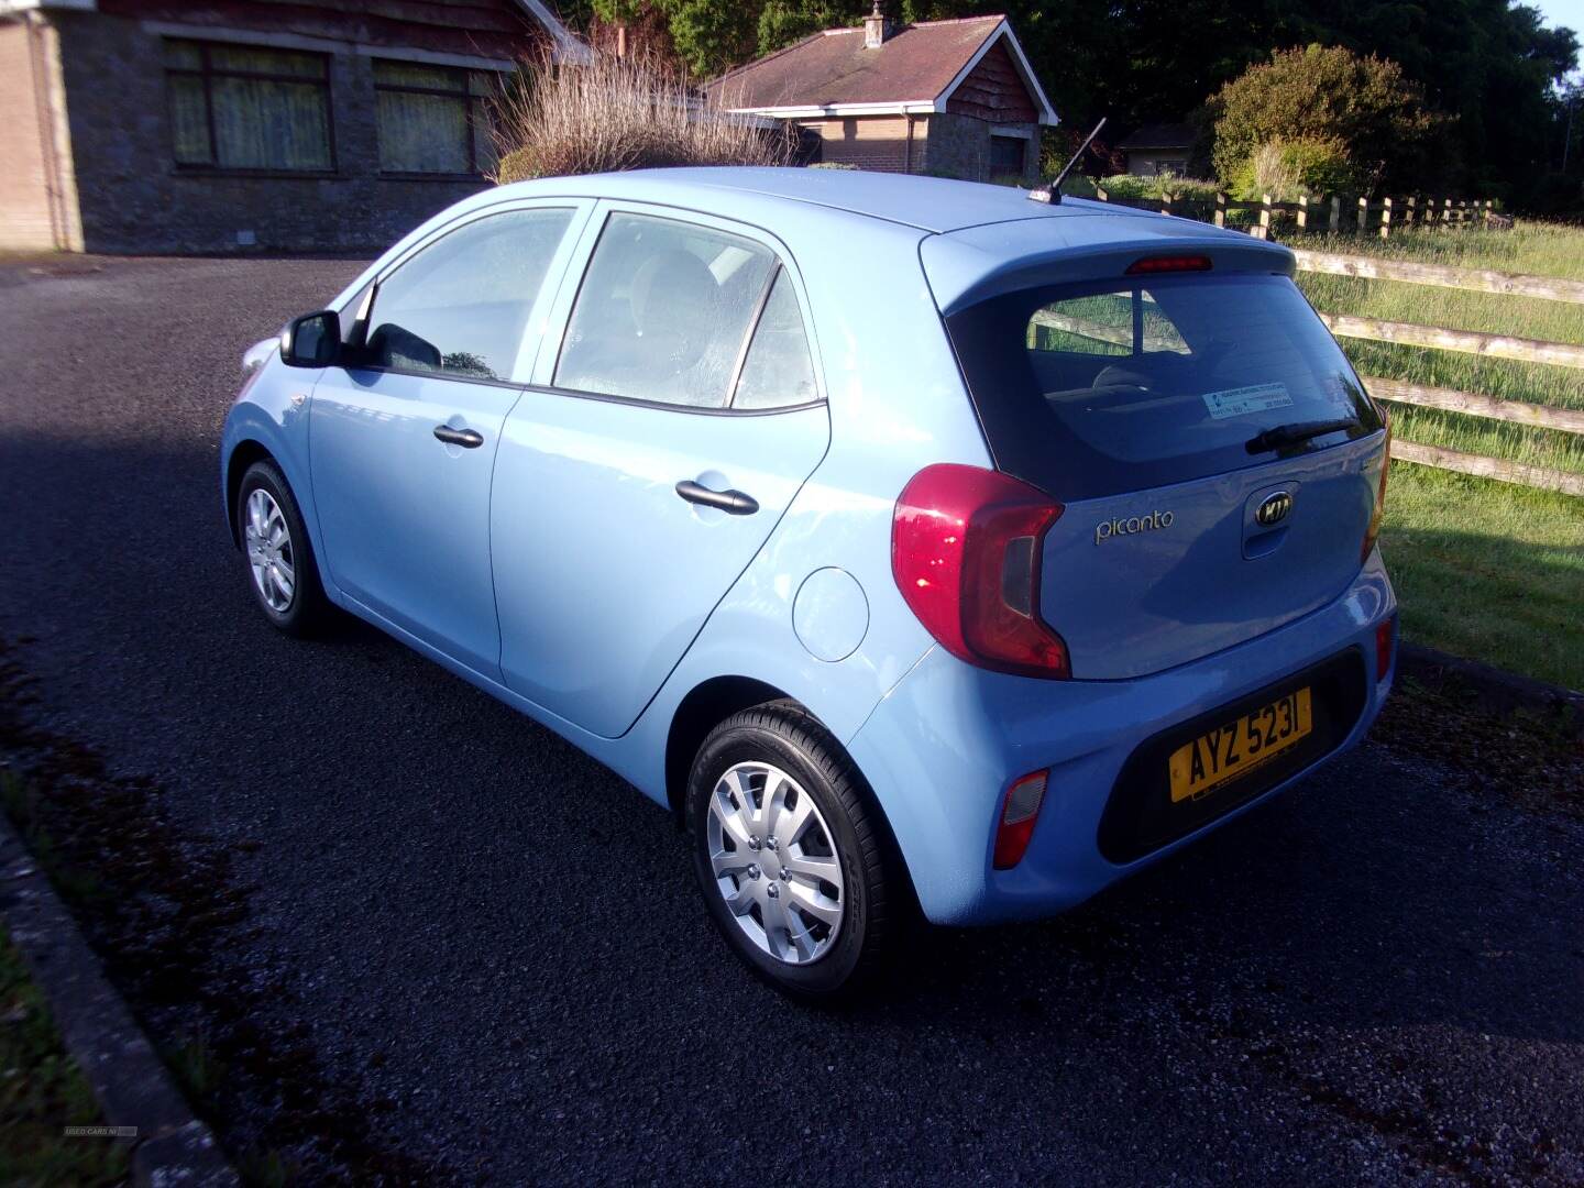
<instances>
[{"instance_id":1,"label":"dark mass of tall trees behind bungalow along top edge","mask_svg":"<svg viewBox=\"0 0 1584 1188\"><path fill-rule=\"evenodd\" d=\"M695 78L854 25L873 0L561 0L664 22ZM1513 0L884 0L904 22L1004 13L1069 128L1107 116L1107 138L1199 109L1274 49L1318 44L1400 67L1443 122L1418 162L1388 160L1403 185L1459 187L1519 204L1555 168L1567 114L1554 86L1578 36ZM1584 117L1581 117L1584 120ZM1574 122L1574 127L1578 122ZM1375 160L1381 160L1376 155ZM1419 169L1410 176L1410 168ZM1391 176L1391 174L1389 174Z\"/></svg>"}]
</instances>

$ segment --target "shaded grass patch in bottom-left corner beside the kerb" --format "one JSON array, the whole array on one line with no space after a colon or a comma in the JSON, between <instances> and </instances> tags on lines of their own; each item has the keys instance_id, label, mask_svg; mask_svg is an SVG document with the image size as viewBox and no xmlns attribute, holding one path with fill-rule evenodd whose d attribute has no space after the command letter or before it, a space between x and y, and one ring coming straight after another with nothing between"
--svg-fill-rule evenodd
<instances>
[{"instance_id":1,"label":"shaded grass patch in bottom-left corner beside the kerb","mask_svg":"<svg viewBox=\"0 0 1584 1188\"><path fill-rule=\"evenodd\" d=\"M105 1118L3 931L0 1023L0 1182L124 1183L127 1152L117 1140L62 1134L65 1126L100 1126Z\"/></svg>"}]
</instances>

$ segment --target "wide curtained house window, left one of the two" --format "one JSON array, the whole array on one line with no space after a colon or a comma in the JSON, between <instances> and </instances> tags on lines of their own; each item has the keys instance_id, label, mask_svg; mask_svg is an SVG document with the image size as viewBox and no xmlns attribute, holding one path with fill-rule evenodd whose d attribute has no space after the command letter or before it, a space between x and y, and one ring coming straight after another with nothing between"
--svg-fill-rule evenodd
<instances>
[{"instance_id":1,"label":"wide curtained house window, left one of the two","mask_svg":"<svg viewBox=\"0 0 1584 1188\"><path fill-rule=\"evenodd\" d=\"M211 169L329 173L329 73L323 54L166 41L176 163Z\"/></svg>"}]
</instances>

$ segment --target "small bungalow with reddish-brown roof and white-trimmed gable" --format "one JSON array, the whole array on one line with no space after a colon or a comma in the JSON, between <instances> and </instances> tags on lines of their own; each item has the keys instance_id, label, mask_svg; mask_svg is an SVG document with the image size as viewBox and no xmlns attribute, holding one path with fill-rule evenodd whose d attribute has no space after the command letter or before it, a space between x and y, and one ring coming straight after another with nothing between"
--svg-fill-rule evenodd
<instances>
[{"instance_id":1,"label":"small bungalow with reddish-brown roof and white-trimmed gable","mask_svg":"<svg viewBox=\"0 0 1584 1188\"><path fill-rule=\"evenodd\" d=\"M1003 16L901 25L874 13L827 29L706 87L727 111L797 125L817 160L969 181L1033 179L1039 79Z\"/></svg>"}]
</instances>

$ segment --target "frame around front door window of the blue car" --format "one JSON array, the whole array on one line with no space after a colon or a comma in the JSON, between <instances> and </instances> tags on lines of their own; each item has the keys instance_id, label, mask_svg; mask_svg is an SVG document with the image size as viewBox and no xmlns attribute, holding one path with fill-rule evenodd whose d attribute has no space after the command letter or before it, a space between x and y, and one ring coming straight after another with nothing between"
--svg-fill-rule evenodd
<instances>
[{"instance_id":1,"label":"frame around front door window of the blue car","mask_svg":"<svg viewBox=\"0 0 1584 1188\"><path fill-rule=\"evenodd\" d=\"M586 231L586 222L591 215L592 204L586 198L534 198L534 200L516 200L505 203L494 203L477 211L467 211L459 219L436 228L432 233L423 236L417 242L401 249L399 253L385 266L382 266L371 280L361 285L353 295L352 301L356 303L358 309L353 315L350 328L342 329L342 341L352 352L361 353L367 345L369 320L379 306L380 287L390 280L398 271L401 271L407 263L415 260L423 252L429 250L442 239L455 231L461 231L466 227L472 227L485 219L493 219L502 214L515 214L518 211L569 211L572 219L567 222L567 228L562 233L561 242L556 246L556 253L550 258L550 266L545 269L545 279L540 282L539 293L534 296L534 304L527 310L527 318L523 323L523 334L516 344L516 353L512 358L512 371L505 379L486 379L483 375L448 375L445 372L423 371L420 367L388 367L379 363L367 363L363 358L355 358L350 363L341 364L345 371L366 371L380 375L415 375L425 380L439 380L444 383L482 383L489 388L512 388L523 391L531 385L524 375L531 375L534 371L535 360L545 347L545 342L551 336L551 317L550 312L556 309L556 303L561 291L565 287L567 272L570 265L575 261L575 253L583 242L583 234ZM529 331L535 325L543 325L545 331L539 336L534 344L534 355L527 360L523 358L523 352L527 347Z\"/></svg>"}]
</instances>

